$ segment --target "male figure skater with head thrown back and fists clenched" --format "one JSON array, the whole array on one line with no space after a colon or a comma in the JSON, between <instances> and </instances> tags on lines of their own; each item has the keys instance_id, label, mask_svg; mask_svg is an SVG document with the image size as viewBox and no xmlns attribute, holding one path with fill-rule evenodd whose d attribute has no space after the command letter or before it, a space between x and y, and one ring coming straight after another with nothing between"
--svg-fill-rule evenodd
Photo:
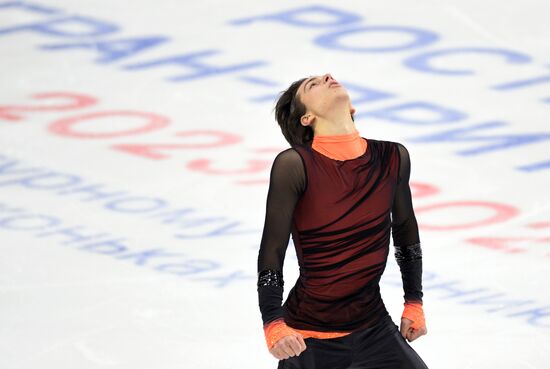
<instances>
[{"instance_id":1,"label":"male figure skater with head thrown back and fists clenched","mask_svg":"<svg viewBox=\"0 0 550 369\"><path fill-rule=\"evenodd\" d=\"M295 81L275 106L291 147L271 167L257 291L278 369L427 368L407 342L427 333L409 152L362 137L354 113L328 73ZM379 286L390 230L404 290L400 327ZM282 304L290 235L300 273Z\"/></svg>"}]
</instances>

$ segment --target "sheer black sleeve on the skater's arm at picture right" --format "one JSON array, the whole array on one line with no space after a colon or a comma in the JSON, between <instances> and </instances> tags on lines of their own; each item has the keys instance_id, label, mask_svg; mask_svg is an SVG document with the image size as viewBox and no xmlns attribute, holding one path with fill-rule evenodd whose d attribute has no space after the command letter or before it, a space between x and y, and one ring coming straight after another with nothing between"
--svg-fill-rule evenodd
<instances>
[{"instance_id":1,"label":"sheer black sleeve on the skater's arm at picture right","mask_svg":"<svg viewBox=\"0 0 550 369\"><path fill-rule=\"evenodd\" d=\"M411 162L405 146L397 143L397 147L400 158L399 179L392 205L395 259L401 270L405 301L422 302L422 248L409 187Z\"/></svg>"}]
</instances>

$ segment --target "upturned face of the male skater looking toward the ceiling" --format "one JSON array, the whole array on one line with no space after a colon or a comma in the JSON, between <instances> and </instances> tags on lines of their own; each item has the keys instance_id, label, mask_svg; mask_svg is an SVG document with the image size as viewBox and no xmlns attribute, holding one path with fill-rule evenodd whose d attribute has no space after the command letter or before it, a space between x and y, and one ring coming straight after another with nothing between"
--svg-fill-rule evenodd
<instances>
[{"instance_id":1,"label":"upturned face of the male skater looking toward the ceiling","mask_svg":"<svg viewBox=\"0 0 550 369\"><path fill-rule=\"evenodd\" d=\"M327 116L326 113L338 105L349 108L352 114L355 112L348 92L329 73L307 78L296 94L306 106L306 111L314 115Z\"/></svg>"}]
</instances>

